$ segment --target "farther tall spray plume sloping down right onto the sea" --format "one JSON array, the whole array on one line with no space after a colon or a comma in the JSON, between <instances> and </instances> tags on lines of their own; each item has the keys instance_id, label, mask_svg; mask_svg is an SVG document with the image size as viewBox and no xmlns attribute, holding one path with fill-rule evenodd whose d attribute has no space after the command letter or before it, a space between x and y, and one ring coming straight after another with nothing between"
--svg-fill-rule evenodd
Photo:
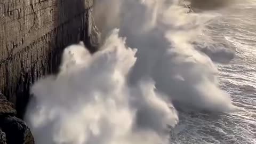
<instances>
[{"instance_id":1,"label":"farther tall spray plume sloping down right onto the sea","mask_svg":"<svg viewBox=\"0 0 256 144\"><path fill-rule=\"evenodd\" d=\"M130 83L150 77L157 91L178 103L210 111L233 110L229 95L218 87L218 69L195 45L207 43L204 30L214 15L187 13L177 1L120 0L118 5L119 13L109 16L118 21L113 26L120 27L127 45L138 49Z\"/></svg>"}]
</instances>

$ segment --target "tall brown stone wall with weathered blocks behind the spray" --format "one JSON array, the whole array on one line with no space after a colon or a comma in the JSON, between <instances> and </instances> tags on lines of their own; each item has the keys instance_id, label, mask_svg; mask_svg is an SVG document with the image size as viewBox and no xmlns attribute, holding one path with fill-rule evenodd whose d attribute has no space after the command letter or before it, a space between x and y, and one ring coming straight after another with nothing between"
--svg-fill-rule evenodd
<instances>
[{"instance_id":1,"label":"tall brown stone wall with weathered blocks behind the spray","mask_svg":"<svg viewBox=\"0 0 256 144\"><path fill-rule=\"evenodd\" d=\"M0 90L18 117L25 113L30 85L58 71L63 47L84 41L95 50L92 1L1 0Z\"/></svg>"}]
</instances>

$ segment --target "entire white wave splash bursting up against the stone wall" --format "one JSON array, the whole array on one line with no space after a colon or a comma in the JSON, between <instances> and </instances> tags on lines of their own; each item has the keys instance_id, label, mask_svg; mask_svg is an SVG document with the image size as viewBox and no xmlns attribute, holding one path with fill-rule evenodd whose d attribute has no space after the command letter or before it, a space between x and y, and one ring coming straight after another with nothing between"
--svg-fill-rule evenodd
<instances>
[{"instance_id":1,"label":"entire white wave splash bursting up against the stone wall","mask_svg":"<svg viewBox=\"0 0 256 144\"><path fill-rule=\"evenodd\" d=\"M31 88L36 143L168 143L179 121L172 103L234 110L212 60L193 45L212 17L174 0L99 0L95 10L97 23L107 18L100 51L66 47L59 74Z\"/></svg>"}]
</instances>

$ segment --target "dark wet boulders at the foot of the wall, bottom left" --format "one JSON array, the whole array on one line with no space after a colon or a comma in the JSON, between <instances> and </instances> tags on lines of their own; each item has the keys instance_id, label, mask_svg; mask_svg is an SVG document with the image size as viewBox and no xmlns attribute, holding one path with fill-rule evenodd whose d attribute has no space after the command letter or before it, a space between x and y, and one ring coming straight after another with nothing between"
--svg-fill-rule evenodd
<instances>
[{"instance_id":1,"label":"dark wet boulders at the foot of the wall, bottom left","mask_svg":"<svg viewBox=\"0 0 256 144\"><path fill-rule=\"evenodd\" d=\"M15 114L13 103L8 102L0 93L0 144L33 144L30 129Z\"/></svg>"}]
</instances>

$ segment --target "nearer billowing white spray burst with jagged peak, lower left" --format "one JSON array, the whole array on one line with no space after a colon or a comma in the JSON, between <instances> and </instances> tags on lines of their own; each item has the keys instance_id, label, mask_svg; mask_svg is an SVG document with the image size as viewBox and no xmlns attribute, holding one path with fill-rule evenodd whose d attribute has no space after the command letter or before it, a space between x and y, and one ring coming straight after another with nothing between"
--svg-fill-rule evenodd
<instances>
[{"instance_id":1,"label":"nearer billowing white spray burst with jagged peak, lower left","mask_svg":"<svg viewBox=\"0 0 256 144\"><path fill-rule=\"evenodd\" d=\"M36 143L167 142L168 125L178 123L171 103L150 79L127 84L136 50L117 29L103 46L93 55L82 44L67 47L60 73L34 84L27 122Z\"/></svg>"}]
</instances>

